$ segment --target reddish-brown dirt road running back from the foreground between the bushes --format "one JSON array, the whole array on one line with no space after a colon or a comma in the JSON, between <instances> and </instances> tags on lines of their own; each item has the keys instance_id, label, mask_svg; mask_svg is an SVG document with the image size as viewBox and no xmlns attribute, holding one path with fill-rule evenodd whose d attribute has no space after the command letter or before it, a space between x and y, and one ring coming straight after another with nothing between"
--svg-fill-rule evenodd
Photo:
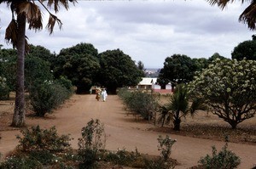
<instances>
[{"instance_id":1,"label":"reddish-brown dirt road running back from the foreground between the bushes","mask_svg":"<svg viewBox=\"0 0 256 169\"><path fill-rule=\"evenodd\" d=\"M116 95L109 95L107 102L96 101L95 95L74 95L71 100L64 104L59 110L55 110L47 118L38 119L28 117L26 123L29 127L40 125L40 127L55 126L61 134L71 134L73 148L77 148L78 138L81 137L81 128L86 126L90 119L99 119L105 126L108 136L106 149L138 149L139 152L148 155L159 155L157 149L157 138L165 133L148 131L153 127L148 122L135 121L132 115L127 116L123 105ZM3 155L14 149L17 144L15 138L17 130L1 132L0 152ZM217 149L224 146L224 142L209 139L189 138L171 135L177 139L172 147L173 159L180 165L176 168L189 168L197 165L201 156L211 154L212 145ZM256 146L249 144L229 144L229 149L241 157L241 169L249 169L256 166Z\"/></svg>"}]
</instances>

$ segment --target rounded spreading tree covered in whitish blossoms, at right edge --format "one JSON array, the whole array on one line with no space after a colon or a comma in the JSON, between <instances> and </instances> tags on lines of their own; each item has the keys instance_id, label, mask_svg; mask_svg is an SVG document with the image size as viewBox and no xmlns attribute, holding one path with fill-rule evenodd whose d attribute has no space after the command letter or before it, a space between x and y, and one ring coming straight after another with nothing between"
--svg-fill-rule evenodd
<instances>
[{"instance_id":1,"label":"rounded spreading tree covered in whitish blossoms, at right edge","mask_svg":"<svg viewBox=\"0 0 256 169\"><path fill-rule=\"evenodd\" d=\"M256 110L256 61L216 59L189 84L189 93L204 99L232 128Z\"/></svg>"}]
</instances>

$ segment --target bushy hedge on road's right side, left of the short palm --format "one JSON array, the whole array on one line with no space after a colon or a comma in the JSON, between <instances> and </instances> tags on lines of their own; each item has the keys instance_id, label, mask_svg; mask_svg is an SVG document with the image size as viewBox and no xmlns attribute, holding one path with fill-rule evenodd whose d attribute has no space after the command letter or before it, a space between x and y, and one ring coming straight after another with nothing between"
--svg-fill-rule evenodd
<instances>
[{"instance_id":1,"label":"bushy hedge on road's right side, left of the short palm","mask_svg":"<svg viewBox=\"0 0 256 169\"><path fill-rule=\"evenodd\" d=\"M119 96L123 99L125 106L137 115L142 115L143 119L151 120L152 112L158 108L156 96L152 93L142 91L120 90Z\"/></svg>"}]
</instances>

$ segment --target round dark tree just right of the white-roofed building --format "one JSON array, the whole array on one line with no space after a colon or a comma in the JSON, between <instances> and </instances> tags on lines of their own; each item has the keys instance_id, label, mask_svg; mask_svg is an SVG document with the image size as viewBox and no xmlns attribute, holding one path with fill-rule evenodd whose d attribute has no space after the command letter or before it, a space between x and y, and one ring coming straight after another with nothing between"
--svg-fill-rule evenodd
<instances>
[{"instance_id":1,"label":"round dark tree just right of the white-roofed building","mask_svg":"<svg viewBox=\"0 0 256 169\"><path fill-rule=\"evenodd\" d=\"M165 87L168 82L190 82L193 80L195 70L195 63L188 56L173 54L166 58L164 68L160 70L157 82L160 83L161 87Z\"/></svg>"}]
</instances>

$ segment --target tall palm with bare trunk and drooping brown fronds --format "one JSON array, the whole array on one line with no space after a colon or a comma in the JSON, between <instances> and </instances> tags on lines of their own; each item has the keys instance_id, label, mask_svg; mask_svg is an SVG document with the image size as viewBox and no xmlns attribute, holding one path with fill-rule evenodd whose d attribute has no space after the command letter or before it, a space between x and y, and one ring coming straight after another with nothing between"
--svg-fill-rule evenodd
<instances>
[{"instance_id":1,"label":"tall palm with bare trunk and drooping brown fronds","mask_svg":"<svg viewBox=\"0 0 256 169\"><path fill-rule=\"evenodd\" d=\"M75 0L69 1L72 3L76 2ZM59 3L68 9L68 0L48 0L47 7L44 5L45 0L38 0L36 2L41 4L48 12L47 7L51 8L52 6L54 6L55 13L58 12L60 8ZM7 3L11 9L12 20L6 29L5 39L13 44L14 48L17 48L17 82L12 126L23 127L25 126L24 59L25 54L29 50L26 42L26 22L29 29L34 29L35 31L42 30L42 14L34 0L0 0L0 3ZM49 22L47 25L49 34L53 32L56 22L61 28L61 20L49 12Z\"/></svg>"}]
</instances>

